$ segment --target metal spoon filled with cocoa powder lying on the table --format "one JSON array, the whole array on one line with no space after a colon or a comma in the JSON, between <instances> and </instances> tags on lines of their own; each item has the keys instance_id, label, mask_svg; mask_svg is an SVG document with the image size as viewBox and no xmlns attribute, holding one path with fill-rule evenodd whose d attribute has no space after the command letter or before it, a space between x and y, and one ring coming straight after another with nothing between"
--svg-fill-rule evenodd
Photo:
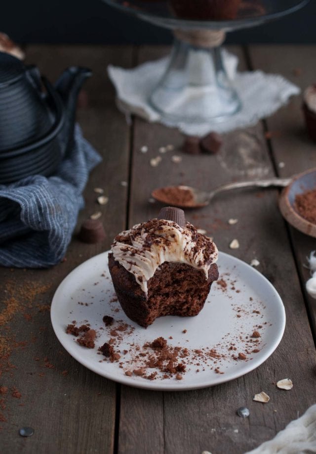
<instances>
[{"instance_id":1,"label":"metal spoon filled with cocoa powder lying on the table","mask_svg":"<svg viewBox=\"0 0 316 454\"><path fill-rule=\"evenodd\" d=\"M182 208L199 208L208 205L219 192L242 187L283 187L287 186L291 181L291 178L270 178L268 180L228 183L218 186L210 192L201 191L191 186L165 186L155 189L152 192L152 196L167 205Z\"/></svg>"}]
</instances>

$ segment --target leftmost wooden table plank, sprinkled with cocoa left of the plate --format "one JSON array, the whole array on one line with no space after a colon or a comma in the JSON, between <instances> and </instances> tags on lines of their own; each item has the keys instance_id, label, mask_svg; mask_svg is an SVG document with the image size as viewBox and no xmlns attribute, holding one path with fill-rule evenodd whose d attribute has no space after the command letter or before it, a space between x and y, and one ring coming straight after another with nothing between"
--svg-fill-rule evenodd
<instances>
[{"instance_id":1,"label":"leftmost wooden table plank, sprinkled with cocoa left of the plate","mask_svg":"<svg viewBox=\"0 0 316 454\"><path fill-rule=\"evenodd\" d=\"M50 270L0 270L1 311L10 296L18 295L20 305L10 322L1 326L2 335L26 342L25 348L12 347L9 361L17 369L4 371L0 377L0 385L9 388L7 395L0 396L5 398L6 405L0 412L7 420L0 423L3 453L113 452L116 385L90 372L63 350L51 327L49 305L61 280L84 260L108 249L113 236L125 227L127 190L120 182L128 178L129 127L115 107L106 66L110 62L130 66L131 59L130 47L27 47L28 63L37 63L51 81L72 64L93 70L93 77L84 86L88 105L78 110L78 120L85 137L101 153L103 162L91 173L78 226L93 212L102 211L108 236L96 245L74 238L67 251L67 261ZM95 202L94 187L105 189L108 205L101 207ZM25 301L16 287L23 288L28 283L34 295ZM47 285L48 289L42 295L35 295L41 285ZM40 312L42 307L48 311ZM54 367L49 368L48 364ZM21 399L11 397L12 386L21 392ZM18 429L26 425L35 429L30 439L18 435Z\"/></svg>"}]
</instances>

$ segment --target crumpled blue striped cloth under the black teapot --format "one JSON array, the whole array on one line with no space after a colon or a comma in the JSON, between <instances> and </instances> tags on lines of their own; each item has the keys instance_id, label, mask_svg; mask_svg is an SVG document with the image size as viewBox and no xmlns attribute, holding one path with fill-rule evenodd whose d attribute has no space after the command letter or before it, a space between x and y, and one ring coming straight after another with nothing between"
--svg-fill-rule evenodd
<instances>
[{"instance_id":1,"label":"crumpled blue striped cloth under the black teapot","mask_svg":"<svg viewBox=\"0 0 316 454\"><path fill-rule=\"evenodd\" d=\"M89 171L100 161L76 125L75 146L53 176L0 184L0 265L47 268L64 258Z\"/></svg>"}]
</instances>

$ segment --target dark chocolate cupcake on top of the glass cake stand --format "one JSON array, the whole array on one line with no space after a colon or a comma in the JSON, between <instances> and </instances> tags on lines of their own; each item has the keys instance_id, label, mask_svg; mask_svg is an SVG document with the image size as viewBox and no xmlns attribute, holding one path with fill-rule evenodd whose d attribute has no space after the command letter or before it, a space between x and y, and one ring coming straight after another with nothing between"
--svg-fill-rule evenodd
<instances>
[{"instance_id":1,"label":"dark chocolate cupcake on top of the glass cake stand","mask_svg":"<svg viewBox=\"0 0 316 454\"><path fill-rule=\"evenodd\" d=\"M174 14L181 19L233 20L241 0L170 0Z\"/></svg>"}]
</instances>

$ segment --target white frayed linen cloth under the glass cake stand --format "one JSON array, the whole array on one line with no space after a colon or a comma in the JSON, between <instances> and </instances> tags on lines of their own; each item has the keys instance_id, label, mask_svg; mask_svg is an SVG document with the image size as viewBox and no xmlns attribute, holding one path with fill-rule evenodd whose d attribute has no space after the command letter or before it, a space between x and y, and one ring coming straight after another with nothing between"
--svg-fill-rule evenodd
<instances>
[{"instance_id":1,"label":"white frayed linen cloth under the glass cake stand","mask_svg":"<svg viewBox=\"0 0 316 454\"><path fill-rule=\"evenodd\" d=\"M223 60L229 77L241 99L242 109L223 123L175 123L160 117L148 103L150 93L158 84L169 57L146 62L133 69L108 66L108 74L117 91L118 108L125 114L133 113L150 122L178 127L184 134L204 136L211 131L225 133L255 125L258 120L272 115L289 97L300 89L277 74L262 71L237 72L238 59L223 50ZM181 112L184 113L183 107Z\"/></svg>"}]
</instances>

